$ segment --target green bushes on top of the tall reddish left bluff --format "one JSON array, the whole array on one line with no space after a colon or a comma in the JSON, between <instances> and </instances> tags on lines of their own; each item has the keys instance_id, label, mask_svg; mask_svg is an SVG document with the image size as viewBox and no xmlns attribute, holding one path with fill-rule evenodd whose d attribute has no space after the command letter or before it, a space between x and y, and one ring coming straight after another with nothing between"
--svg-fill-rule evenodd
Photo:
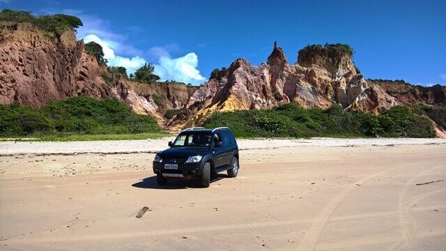
<instances>
[{"instance_id":1,"label":"green bushes on top of the tall reddish left bluff","mask_svg":"<svg viewBox=\"0 0 446 251\"><path fill-rule=\"evenodd\" d=\"M83 25L78 17L71 15L56 14L35 16L29 11L8 9L1 10L0 21L30 23L38 26L43 31L54 32L56 34L66 29L75 30Z\"/></svg>"}]
</instances>

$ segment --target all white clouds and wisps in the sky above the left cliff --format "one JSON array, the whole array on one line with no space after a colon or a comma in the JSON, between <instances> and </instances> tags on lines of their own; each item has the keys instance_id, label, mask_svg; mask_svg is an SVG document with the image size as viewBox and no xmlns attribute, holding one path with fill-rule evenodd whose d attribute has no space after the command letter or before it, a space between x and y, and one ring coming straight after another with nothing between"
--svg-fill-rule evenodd
<instances>
[{"instance_id":1,"label":"all white clouds and wisps in the sky above the left cliff","mask_svg":"<svg viewBox=\"0 0 446 251\"><path fill-rule=\"evenodd\" d=\"M108 66L123 66L130 74L147 63L142 57L144 53L130 45L127 36L112 31L109 28L112 26L107 20L102 20L95 15L86 15L83 10L74 9L46 8L40 10L40 13L65 13L79 17L84 25L77 29L77 38L84 39L84 43L94 41L101 45ZM134 29L134 27L130 28ZM141 31L140 27L138 29ZM154 64L155 74L160 76L161 81L175 80L191 84L202 84L206 81L206 78L197 70L197 54L191 52L185 56L172 58L170 52L178 52L178 46L171 44L152 47L145 54L150 61L158 62Z\"/></svg>"}]
</instances>

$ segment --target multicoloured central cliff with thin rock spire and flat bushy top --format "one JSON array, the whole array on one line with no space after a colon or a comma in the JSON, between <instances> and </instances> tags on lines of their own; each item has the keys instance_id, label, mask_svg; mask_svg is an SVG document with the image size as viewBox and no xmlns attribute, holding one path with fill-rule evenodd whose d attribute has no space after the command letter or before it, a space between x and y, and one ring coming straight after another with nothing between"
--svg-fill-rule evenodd
<instances>
[{"instance_id":1,"label":"multicoloured central cliff with thin rock spire and flat bushy top","mask_svg":"<svg viewBox=\"0 0 446 251\"><path fill-rule=\"evenodd\" d=\"M199 126L213 112L270 109L288 102L305 108L328 108L337 102L345 109L373 113L399 104L356 72L351 52L300 50L298 62L289 64L275 44L268 61L261 66L237 59L226 77L210 79L169 126Z\"/></svg>"}]
</instances>

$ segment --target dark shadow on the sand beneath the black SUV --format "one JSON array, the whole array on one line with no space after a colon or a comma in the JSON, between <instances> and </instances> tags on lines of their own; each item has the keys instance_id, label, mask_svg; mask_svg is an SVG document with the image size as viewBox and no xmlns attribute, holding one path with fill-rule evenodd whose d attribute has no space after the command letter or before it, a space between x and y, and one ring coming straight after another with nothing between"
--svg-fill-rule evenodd
<instances>
[{"instance_id":1,"label":"dark shadow on the sand beneath the black SUV","mask_svg":"<svg viewBox=\"0 0 446 251\"><path fill-rule=\"evenodd\" d=\"M220 181L222 178L227 178L226 174L217 174L210 183L215 181ZM132 184L134 188L145 188L145 189L186 189L186 188L201 188L197 180L191 179L187 180L185 178L168 178L167 185L158 185L156 182L156 175L143 178L137 183Z\"/></svg>"}]
</instances>

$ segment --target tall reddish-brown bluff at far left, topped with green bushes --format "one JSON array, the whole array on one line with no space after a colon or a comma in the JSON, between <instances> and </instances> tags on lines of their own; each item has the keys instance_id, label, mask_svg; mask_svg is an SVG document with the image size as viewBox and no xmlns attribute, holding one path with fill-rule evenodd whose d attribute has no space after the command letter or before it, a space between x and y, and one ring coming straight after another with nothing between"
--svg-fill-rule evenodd
<instances>
[{"instance_id":1,"label":"tall reddish-brown bluff at far left, topped with green bushes","mask_svg":"<svg viewBox=\"0 0 446 251\"><path fill-rule=\"evenodd\" d=\"M104 84L73 31L56 38L31 24L0 24L0 103L40 107L70 96L105 98Z\"/></svg>"}]
</instances>

